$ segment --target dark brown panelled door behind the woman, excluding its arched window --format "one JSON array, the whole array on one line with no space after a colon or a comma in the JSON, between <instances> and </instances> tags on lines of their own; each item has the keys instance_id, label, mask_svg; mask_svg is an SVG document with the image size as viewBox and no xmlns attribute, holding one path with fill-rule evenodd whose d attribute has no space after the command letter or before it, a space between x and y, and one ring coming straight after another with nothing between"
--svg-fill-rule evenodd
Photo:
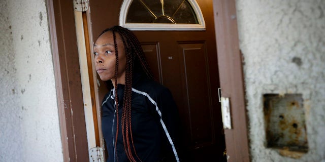
<instances>
[{"instance_id":1,"label":"dark brown panelled door behind the woman, excluding its arched window","mask_svg":"<svg viewBox=\"0 0 325 162\"><path fill-rule=\"evenodd\" d=\"M225 150L212 1L197 1L205 31L134 31L159 82L168 87L182 121L186 161L222 161ZM90 1L94 39L118 25L122 1ZM100 88L100 97L107 92Z\"/></svg>"}]
</instances>

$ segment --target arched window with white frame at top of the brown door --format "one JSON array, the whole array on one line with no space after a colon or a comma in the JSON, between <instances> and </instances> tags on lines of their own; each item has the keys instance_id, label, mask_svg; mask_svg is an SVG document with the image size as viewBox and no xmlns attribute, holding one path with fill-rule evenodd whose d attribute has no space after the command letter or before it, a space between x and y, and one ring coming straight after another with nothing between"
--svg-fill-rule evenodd
<instances>
[{"instance_id":1,"label":"arched window with white frame at top of the brown door","mask_svg":"<svg viewBox=\"0 0 325 162\"><path fill-rule=\"evenodd\" d=\"M119 23L131 30L205 30L195 0L124 0Z\"/></svg>"}]
</instances>

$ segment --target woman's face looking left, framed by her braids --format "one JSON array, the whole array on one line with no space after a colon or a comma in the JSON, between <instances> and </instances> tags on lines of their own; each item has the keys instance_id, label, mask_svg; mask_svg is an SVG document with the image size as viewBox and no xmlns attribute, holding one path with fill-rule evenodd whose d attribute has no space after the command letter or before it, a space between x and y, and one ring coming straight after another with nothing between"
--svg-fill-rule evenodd
<instances>
[{"instance_id":1,"label":"woman's face looking left, framed by her braids","mask_svg":"<svg viewBox=\"0 0 325 162\"><path fill-rule=\"evenodd\" d=\"M123 42L116 33L116 44L118 50L118 73L117 83L125 84L126 56ZM111 31L102 34L94 44L94 61L97 73L103 81L112 80L115 85L115 48L113 33Z\"/></svg>"}]
</instances>

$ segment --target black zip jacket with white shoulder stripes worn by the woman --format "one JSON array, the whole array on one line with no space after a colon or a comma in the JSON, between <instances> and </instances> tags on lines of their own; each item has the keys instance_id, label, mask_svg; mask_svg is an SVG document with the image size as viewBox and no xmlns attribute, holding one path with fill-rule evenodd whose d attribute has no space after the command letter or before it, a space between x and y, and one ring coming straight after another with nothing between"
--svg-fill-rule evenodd
<instances>
[{"instance_id":1,"label":"black zip jacket with white shoulder stripes worn by the woman","mask_svg":"<svg viewBox=\"0 0 325 162\"><path fill-rule=\"evenodd\" d=\"M132 88L131 122L137 155L143 162L178 161L179 116L170 91L140 75L133 78ZM116 137L114 91L115 89L106 94L102 103L102 130L108 150L107 161L123 162L128 161L121 131L124 85L117 86L119 132L116 150L114 149Z\"/></svg>"}]
</instances>

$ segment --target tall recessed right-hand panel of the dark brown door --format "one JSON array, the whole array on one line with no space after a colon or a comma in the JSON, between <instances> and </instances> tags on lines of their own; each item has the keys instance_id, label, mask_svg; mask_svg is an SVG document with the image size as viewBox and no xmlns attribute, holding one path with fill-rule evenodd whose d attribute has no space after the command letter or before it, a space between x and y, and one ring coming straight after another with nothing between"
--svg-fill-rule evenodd
<instances>
[{"instance_id":1,"label":"tall recessed right-hand panel of the dark brown door","mask_svg":"<svg viewBox=\"0 0 325 162\"><path fill-rule=\"evenodd\" d=\"M179 44L183 103L188 107L190 134L188 147L211 144L213 131L211 119L211 95L207 76L206 48L204 43ZM183 68L182 68L183 67ZM186 110L185 110L186 111Z\"/></svg>"}]
</instances>

